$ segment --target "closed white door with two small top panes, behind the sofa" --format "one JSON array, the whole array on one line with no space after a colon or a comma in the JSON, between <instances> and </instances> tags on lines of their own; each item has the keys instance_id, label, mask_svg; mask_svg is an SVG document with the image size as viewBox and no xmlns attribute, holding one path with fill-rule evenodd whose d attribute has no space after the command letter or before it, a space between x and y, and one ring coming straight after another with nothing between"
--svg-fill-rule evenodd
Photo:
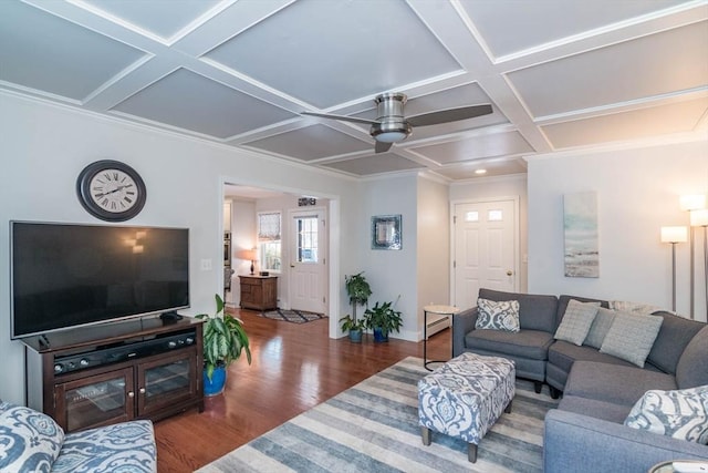
<instances>
[{"instance_id":1,"label":"closed white door with two small top panes, behind the sofa","mask_svg":"<svg viewBox=\"0 0 708 473\"><path fill-rule=\"evenodd\" d=\"M513 199L455 205L455 306L477 306L480 287L517 291L516 208Z\"/></svg>"}]
</instances>

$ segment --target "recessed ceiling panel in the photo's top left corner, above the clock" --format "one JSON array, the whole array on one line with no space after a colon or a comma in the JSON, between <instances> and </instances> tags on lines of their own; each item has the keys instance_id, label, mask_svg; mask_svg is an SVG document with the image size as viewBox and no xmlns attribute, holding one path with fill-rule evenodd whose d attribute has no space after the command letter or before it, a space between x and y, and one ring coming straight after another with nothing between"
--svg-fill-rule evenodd
<instances>
[{"instance_id":1,"label":"recessed ceiling panel in the photo's top left corner, above the clock","mask_svg":"<svg viewBox=\"0 0 708 473\"><path fill-rule=\"evenodd\" d=\"M0 80L82 101L145 52L17 1L0 6Z\"/></svg>"}]
</instances>

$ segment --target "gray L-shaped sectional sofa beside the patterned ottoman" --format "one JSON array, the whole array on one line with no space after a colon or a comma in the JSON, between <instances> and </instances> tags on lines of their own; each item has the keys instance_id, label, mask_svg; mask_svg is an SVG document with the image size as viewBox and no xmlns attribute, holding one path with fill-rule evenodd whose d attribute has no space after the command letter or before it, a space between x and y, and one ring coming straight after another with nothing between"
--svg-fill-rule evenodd
<instances>
[{"instance_id":1,"label":"gray L-shaped sectional sofa beside the patterned ottoman","mask_svg":"<svg viewBox=\"0 0 708 473\"><path fill-rule=\"evenodd\" d=\"M533 380L540 392L561 393L549 411L544 432L544 471L646 473L667 460L708 460L708 446L625 426L633 405L647 390L708 384L708 327L668 312L644 368L586 345L555 340L555 331L574 296L546 296L480 289L479 297L519 301L518 332L476 330L477 307L455 316L452 353L470 351L510 358L517 376Z\"/></svg>"}]
</instances>

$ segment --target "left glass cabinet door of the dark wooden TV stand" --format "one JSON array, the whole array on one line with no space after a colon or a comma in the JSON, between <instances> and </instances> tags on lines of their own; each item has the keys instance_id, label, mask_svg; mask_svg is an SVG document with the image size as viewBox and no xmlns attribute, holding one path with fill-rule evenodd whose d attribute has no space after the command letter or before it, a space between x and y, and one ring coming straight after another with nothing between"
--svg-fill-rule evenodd
<instances>
[{"instance_id":1,"label":"left glass cabinet door of the dark wooden TV stand","mask_svg":"<svg viewBox=\"0 0 708 473\"><path fill-rule=\"evenodd\" d=\"M58 383L54 394L56 422L66 432L124 422L135 412L132 368Z\"/></svg>"}]
</instances>

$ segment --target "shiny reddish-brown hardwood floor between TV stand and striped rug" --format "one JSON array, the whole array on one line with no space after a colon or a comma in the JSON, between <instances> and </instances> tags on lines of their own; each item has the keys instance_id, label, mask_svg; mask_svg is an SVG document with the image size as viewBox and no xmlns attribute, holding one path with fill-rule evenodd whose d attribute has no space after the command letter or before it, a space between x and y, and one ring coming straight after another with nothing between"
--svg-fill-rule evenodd
<instances>
[{"instance_id":1,"label":"shiny reddish-brown hardwood floor between TV stand and striped rug","mask_svg":"<svg viewBox=\"0 0 708 473\"><path fill-rule=\"evenodd\" d=\"M423 342L332 340L329 319L298 325L230 311L244 322L253 362L230 367L225 393L207 398L205 412L155 423L160 473L191 472L408 356L423 358ZM428 358L450 358L449 330L430 337Z\"/></svg>"}]
</instances>

